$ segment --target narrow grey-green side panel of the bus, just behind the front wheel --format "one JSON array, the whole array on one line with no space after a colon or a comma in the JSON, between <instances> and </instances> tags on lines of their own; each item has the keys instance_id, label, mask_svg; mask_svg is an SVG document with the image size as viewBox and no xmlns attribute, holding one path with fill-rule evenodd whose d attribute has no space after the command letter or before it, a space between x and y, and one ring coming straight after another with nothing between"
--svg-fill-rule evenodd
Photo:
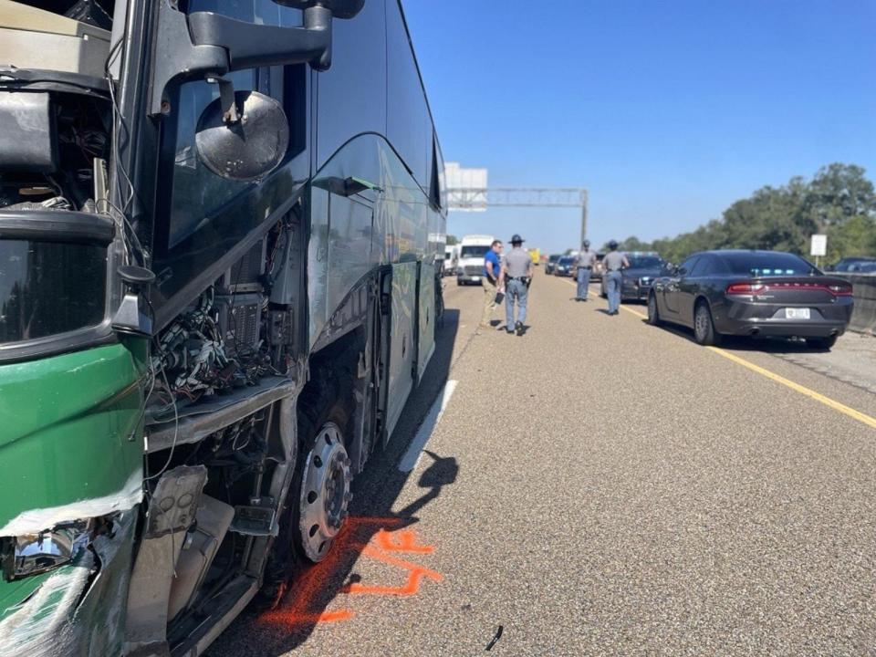
<instances>
[{"instance_id":1,"label":"narrow grey-green side panel of the bus, just behind the front wheel","mask_svg":"<svg viewBox=\"0 0 876 657\"><path fill-rule=\"evenodd\" d=\"M390 332L390 384L387 394L386 434L392 435L401 410L413 388L413 360L416 356L418 263L392 266L392 316Z\"/></svg>"}]
</instances>

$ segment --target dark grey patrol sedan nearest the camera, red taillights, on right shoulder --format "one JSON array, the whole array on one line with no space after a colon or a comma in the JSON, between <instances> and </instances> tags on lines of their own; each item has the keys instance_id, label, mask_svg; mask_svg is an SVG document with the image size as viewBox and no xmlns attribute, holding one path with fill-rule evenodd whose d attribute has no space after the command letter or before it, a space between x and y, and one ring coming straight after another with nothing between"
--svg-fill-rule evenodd
<instances>
[{"instance_id":1,"label":"dark grey patrol sedan nearest the camera, red taillights, on right shoulder","mask_svg":"<svg viewBox=\"0 0 876 657\"><path fill-rule=\"evenodd\" d=\"M851 285L780 251L706 251L663 272L648 296L648 323L694 328L694 339L723 335L805 338L830 349L851 318Z\"/></svg>"}]
</instances>

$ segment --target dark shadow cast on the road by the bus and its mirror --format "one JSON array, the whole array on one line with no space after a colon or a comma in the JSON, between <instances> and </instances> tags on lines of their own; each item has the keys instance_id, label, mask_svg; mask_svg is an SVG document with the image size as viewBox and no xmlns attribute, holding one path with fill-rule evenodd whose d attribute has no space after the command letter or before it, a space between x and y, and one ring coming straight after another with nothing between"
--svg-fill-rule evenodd
<instances>
[{"instance_id":1,"label":"dark shadow cast on the road by the bus and its mirror","mask_svg":"<svg viewBox=\"0 0 876 657\"><path fill-rule=\"evenodd\" d=\"M353 569L362 552L371 549L371 539L416 524L419 518L415 514L441 495L446 486L454 484L460 470L456 459L424 450L423 458L431 459L431 463L417 481L422 495L401 510L392 511L411 477L411 473L399 471L399 460L448 379L459 320L459 310L444 310L432 361L406 403L390 444L372 454L364 472L353 481L349 522L328 558L302 568L273 610L255 610L251 606L219 636L207 654L276 657L307 641L318 623L347 620L349 615L345 614L351 612L327 611L328 605L340 593L360 585L360 575Z\"/></svg>"}]
</instances>

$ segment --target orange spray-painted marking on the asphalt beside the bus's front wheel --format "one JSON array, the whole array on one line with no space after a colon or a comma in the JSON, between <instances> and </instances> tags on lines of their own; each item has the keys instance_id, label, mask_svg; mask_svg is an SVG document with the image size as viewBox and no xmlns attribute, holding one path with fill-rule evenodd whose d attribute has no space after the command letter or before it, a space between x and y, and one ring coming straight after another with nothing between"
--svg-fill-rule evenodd
<instances>
[{"instance_id":1,"label":"orange spray-painted marking on the asphalt beside the bus's front wheel","mask_svg":"<svg viewBox=\"0 0 876 657\"><path fill-rule=\"evenodd\" d=\"M302 572L292 584L288 594L284 596L285 600L289 600L289 603L281 603L277 609L261 614L259 621L272 625L282 624L291 629L302 625L317 625L354 618L355 612L349 609L331 611L317 611L315 609L318 609L319 596L326 594L326 582L330 581L332 575L345 564L351 564L360 556L373 558L389 566L406 570L408 573L407 581L402 586L368 586L354 582L340 589L341 592L350 595L412 596L419 592L422 579L442 581L442 575L434 570L423 568L388 554L432 554L434 552L433 546L418 545L416 533L411 529L402 529L398 532L387 530L390 527L401 527L404 524L405 519L398 517L348 518L347 526L335 539L335 546L328 557ZM373 532L374 529L377 529L377 532L368 542L357 537L357 534L364 533L364 530Z\"/></svg>"}]
</instances>

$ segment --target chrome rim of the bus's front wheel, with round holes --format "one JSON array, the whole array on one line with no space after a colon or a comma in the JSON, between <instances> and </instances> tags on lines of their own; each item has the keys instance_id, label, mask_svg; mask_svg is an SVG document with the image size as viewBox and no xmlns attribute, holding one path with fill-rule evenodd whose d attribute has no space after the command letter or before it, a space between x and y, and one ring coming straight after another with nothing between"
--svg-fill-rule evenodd
<instances>
[{"instance_id":1,"label":"chrome rim of the bus's front wheel, with round holes","mask_svg":"<svg viewBox=\"0 0 876 657\"><path fill-rule=\"evenodd\" d=\"M298 531L311 561L321 561L347 518L352 494L350 460L343 436L334 422L326 422L308 454L301 479Z\"/></svg>"}]
</instances>

